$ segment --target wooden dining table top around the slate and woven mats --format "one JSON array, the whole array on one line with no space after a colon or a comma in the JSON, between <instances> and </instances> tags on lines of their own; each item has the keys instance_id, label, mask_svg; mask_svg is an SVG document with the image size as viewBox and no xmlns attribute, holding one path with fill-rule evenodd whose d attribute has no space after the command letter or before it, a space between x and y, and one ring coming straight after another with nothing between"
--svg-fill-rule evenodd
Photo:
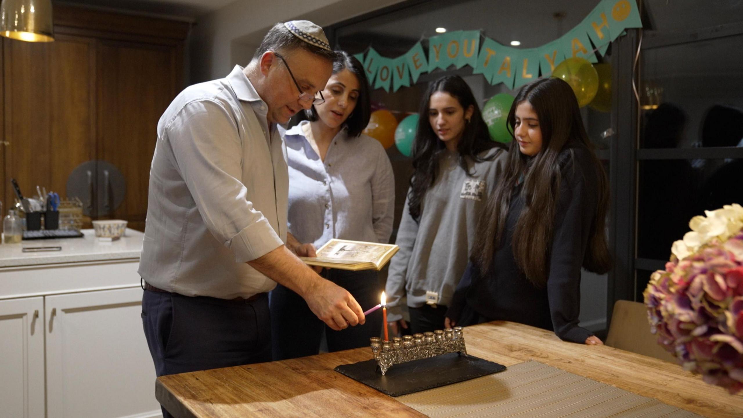
<instances>
[{"instance_id":1,"label":"wooden dining table top around the slate and woven mats","mask_svg":"<svg viewBox=\"0 0 743 418\"><path fill-rule=\"evenodd\" d=\"M560 341L507 321L464 329L467 353L505 366L534 360L706 417L743 417L743 393L704 383L678 364L607 346ZM426 417L333 369L373 358L368 347L161 376L155 396L178 418Z\"/></svg>"}]
</instances>

